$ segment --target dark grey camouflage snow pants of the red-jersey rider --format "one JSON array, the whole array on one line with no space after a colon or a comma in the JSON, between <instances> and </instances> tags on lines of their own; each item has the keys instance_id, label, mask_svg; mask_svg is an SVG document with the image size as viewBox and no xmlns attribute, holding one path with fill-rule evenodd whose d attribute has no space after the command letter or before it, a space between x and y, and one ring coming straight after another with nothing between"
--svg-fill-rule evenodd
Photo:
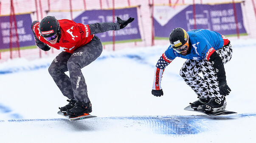
<instances>
[{"instance_id":1,"label":"dark grey camouflage snow pants of the red-jersey rider","mask_svg":"<svg viewBox=\"0 0 256 143\"><path fill-rule=\"evenodd\" d=\"M90 102L81 69L97 59L101 52L102 43L94 36L90 43L79 47L73 54L61 52L53 60L48 70L64 96L79 102ZM66 71L69 71L70 78L64 73Z\"/></svg>"}]
</instances>

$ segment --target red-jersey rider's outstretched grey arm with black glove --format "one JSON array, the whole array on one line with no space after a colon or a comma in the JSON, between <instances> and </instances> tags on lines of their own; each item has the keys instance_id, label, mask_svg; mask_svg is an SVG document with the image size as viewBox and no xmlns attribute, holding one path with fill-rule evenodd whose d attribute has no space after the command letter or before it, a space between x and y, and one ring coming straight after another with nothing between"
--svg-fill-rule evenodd
<instances>
[{"instance_id":1,"label":"red-jersey rider's outstretched grey arm with black glove","mask_svg":"<svg viewBox=\"0 0 256 143\"><path fill-rule=\"evenodd\" d=\"M131 23L134 18L129 18L128 20L122 20L117 17L117 23L113 22L104 22L104 23L95 23L95 24L88 24L90 27L91 35L96 33L102 33L109 30L120 30L127 26L127 24Z\"/></svg>"}]
</instances>

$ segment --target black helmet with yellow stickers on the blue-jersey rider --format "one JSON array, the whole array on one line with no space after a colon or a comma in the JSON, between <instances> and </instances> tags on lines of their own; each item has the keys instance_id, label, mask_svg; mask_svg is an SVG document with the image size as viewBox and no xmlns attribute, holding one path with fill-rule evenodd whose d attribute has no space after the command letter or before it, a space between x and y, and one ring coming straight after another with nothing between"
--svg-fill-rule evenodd
<instances>
[{"instance_id":1,"label":"black helmet with yellow stickers on the blue-jersey rider","mask_svg":"<svg viewBox=\"0 0 256 143\"><path fill-rule=\"evenodd\" d=\"M170 33L169 40L172 48L179 48L187 42L188 33L183 28L174 28Z\"/></svg>"}]
</instances>

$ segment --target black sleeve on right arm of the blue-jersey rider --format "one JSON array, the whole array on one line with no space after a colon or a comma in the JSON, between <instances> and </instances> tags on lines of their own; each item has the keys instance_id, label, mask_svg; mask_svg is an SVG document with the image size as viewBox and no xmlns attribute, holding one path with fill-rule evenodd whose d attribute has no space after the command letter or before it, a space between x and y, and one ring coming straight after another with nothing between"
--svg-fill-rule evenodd
<instances>
[{"instance_id":1,"label":"black sleeve on right arm of the blue-jersey rider","mask_svg":"<svg viewBox=\"0 0 256 143\"><path fill-rule=\"evenodd\" d=\"M217 80L219 81L219 85L225 84L226 73L225 73L224 65L221 57L219 57L216 51L214 51L214 53L211 54L209 61L213 63L213 67L216 69Z\"/></svg>"}]
</instances>

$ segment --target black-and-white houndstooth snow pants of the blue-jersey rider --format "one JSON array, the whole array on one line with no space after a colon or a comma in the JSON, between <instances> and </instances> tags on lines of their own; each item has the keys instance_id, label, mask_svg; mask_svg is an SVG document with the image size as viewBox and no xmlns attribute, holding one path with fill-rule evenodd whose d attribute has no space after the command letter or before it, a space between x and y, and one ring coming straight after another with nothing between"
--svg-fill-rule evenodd
<instances>
[{"instance_id":1,"label":"black-and-white houndstooth snow pants of the blue-jersey rider","mask_svg":"<svg viewBox=\"0 0 256 143\"><path fill-rule=\"evenodd\" d=\"M216 52L219 54L219 57L221 57L223 64L231 59L233 53L230 44L223 46ZM201 72L203 73L203 78L198 75ZM180 70L180 76L183 77L186 84L188 84L198 96L218 97L219 100L222 100L222 95L219 94L219 82L217 81L216 71L212 63L206 59L187 59Z\"/></svg>"}]
</instances>

